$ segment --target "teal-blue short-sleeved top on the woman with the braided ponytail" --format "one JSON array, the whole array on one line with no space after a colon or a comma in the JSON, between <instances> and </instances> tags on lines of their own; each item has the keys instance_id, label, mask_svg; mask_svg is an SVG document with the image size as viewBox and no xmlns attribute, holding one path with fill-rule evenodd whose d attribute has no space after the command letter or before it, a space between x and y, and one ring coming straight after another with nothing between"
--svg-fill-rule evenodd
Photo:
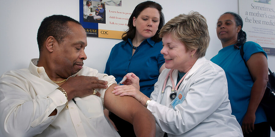
<instances>
[{"instance_id":1,"label":"teal-blue short-sleeved top on the woman with the braided ponytail","mask_svg":"<svg viewBox=\"0 0 275 137\"><path fill-rule=\"evenodd\" d=\"M258 52L262 52L267 57L266 52L259 44L252 41L244 44L245 61L248 61L252 54ZM211 61L219 65L226 73L232 114L236 116L237 121L242 125L254 82L244 64L240 50L235 49L234 45L224 47L216 56L211 58ZM255 116L255 124L266 121L266 114L261 105L259 105Z\"/></svg>"}]
</instances>

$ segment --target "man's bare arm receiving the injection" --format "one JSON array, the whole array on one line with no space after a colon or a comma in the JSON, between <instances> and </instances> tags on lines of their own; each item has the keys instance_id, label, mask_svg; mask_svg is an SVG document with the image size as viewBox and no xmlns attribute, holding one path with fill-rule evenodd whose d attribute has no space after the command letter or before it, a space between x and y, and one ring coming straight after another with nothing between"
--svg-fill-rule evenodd
<instances>
[{"instance_id":1,"label":"man's bare arm receiving the injection","mask_svg":"<svg viewBox=\"0 0 275 137\"><path fill-rule=\"evenodd\" d=\"M130 122L134 126L137 137L154 137L156 135L156 121L152 113L131 96L116 96L112 93L115 86L117 85L112 84L105 91L105 107L120 118Z\"/></svg>"}]
</instances>

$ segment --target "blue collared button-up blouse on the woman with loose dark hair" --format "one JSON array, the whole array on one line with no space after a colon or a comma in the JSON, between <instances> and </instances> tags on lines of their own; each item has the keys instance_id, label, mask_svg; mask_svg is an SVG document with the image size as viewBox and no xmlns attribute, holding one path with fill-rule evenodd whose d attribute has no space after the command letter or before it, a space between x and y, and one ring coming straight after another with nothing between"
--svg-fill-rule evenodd
<instances>
[{"instance_id":1,"label":"blue collared button-up blouse on the woman with loose dark hair","mask_svg":"<svg viewBox=\"0 0 275 137\"><path fill-rule=\"evenodd\" d=\"M116 44L111 50L104 73L113 75L119 83L127 73L133 72L140 79L140 91L150 97L160 75L160 67L165 62L163 54L160 54L162 42L154 42L151 38L143 40L133 56L132 46L130 39Z\"/></svg>"}]
</instances>

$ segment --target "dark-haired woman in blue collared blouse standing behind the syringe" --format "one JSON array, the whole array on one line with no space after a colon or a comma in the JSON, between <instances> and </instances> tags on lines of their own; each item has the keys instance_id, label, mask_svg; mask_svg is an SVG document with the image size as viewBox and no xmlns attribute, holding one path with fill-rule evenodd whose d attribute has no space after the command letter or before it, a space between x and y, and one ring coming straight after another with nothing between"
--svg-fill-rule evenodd
<instances>
[{"instance_id":1,"label":"dark-haired woman in blue collared blouse standing behind the syringe","mask_svg":"<svg viewBox=\"0 0 275 137\"><path fill-rule=\"evenodd\" d=\"M165 68L163 54L160 54L163 46L158 35L163 25L160 4L152 1L138 4L129 18L129 29L122 35L123 41L112 48L104 73L115 76L119 83L127 73L133 72L140 78L140 91L150 97L160 72ZM110 118L121 136L135 135L130 123L112 113Z\"/></svg>"}]
</instances>

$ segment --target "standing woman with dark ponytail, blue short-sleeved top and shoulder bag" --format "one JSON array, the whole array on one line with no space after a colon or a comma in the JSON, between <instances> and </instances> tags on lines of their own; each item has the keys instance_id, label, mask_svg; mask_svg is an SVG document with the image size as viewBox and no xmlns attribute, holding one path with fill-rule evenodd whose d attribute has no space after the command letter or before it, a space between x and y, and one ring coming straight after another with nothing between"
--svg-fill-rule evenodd
<instances>
[{"instance_id":1,"label":"standing woman with dark ponytail, blue short-sleeved top and shoulder bag","mask_svg":"<svg viewBox=\"0 0 275 137\"><path fill-rule=\"evenodd\" d=\"M226 73L232 114L241 125L244 136L266 137L270 136L270 125L259 103L268 81L267 55L259 44L245 42L246 33L242 27L243 21L238 14L226 12L220 16L216 31L223 48L211 61ZM240 54L241 46L244 46L249 71Z\"/></svg>"}]
</instances>

